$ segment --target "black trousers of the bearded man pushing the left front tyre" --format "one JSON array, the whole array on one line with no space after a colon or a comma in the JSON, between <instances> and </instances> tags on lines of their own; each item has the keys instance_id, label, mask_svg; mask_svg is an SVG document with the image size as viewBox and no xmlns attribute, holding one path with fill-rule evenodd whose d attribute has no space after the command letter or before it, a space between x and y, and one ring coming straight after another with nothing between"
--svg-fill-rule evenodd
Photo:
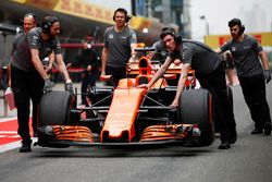
<instances>
[{"instance_id":1,"label":"black trousers of the bearded man pushing the left front tyre","mask_svg":"<svg viewBox=\"0 0 272 182\"><path fill-rule=\"evenodd\" d=\"M29 110L30 99L33 102L33 130L37 130L38 106L44 94L45 81L38 72L24 72L11 66L11 86L14 94L15 106L17 108L17 133L23 143L30 142L29 134Z\"/></svg>"}]
</instances>

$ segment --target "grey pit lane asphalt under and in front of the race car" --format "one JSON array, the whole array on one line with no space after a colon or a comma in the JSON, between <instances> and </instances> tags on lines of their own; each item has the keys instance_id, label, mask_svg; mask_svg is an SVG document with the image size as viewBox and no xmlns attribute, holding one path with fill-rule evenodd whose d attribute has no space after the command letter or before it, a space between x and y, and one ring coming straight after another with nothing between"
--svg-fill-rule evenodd
<instances>
[{"instance_id":1,"label":"grey pit lane asphalt under and in front of the race car","mask_svg":"<svg viewBox=\"0 0 272 182\"><path fill-rule=\"evenodd\" d=\"M254 85L252 85L254 86ZM239 86L232 86L238 141L201 148L41 148L0 154L1 182L271 182L272 136L251 135L252 121ZM272 114L272 82L267 97Z\"/></svg>"}]
</instances>

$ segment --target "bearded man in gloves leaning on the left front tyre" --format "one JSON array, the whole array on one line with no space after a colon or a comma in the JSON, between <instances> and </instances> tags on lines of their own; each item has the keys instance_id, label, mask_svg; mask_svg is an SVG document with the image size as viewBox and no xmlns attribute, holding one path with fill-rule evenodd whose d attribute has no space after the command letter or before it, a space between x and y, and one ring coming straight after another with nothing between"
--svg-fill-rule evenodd
<instances>
[{"instance_id":1,"label":"bearded man in gloves leaning on the left front tyre","mask_svg":"<svg viewBox=\"0 0 272 182\"><path fill-rule=\"evenodd\" d=\"M46 16L41 22L41 28L34 27L26 36L18 39L11 60L11 86L17 108L18 134L23 139L23 145L20 148L21 153L30 151L29 99L33 100L34 109L37 109L42 90L49 92L52 89L52 83L41 63L41 60L52 51L66 81L65 88L70 92L73 89L61 56L59 33L59 20L54 16ZM33 119L37 120L37 111L33 113Z\"/></svg>"}]
</instances>

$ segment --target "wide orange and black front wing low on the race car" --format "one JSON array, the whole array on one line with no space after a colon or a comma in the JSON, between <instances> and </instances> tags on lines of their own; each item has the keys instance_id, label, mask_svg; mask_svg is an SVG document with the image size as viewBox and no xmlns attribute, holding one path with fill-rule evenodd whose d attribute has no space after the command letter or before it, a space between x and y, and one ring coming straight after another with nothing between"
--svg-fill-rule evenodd
<instances>
[{"instance_id":1,"label":"wide orange and black front wing low on the race car","mask_svg":"<svg viewBox=\"0 0 272 182\"><path fill-rule=\"evenodd\" d=\"M198 144L201 131L198 124L151 125L134 142L100 142L86 126L46 125L38 129L38 142L42 147L69 146L157 146Z\"/></svg>"}]
</instances>

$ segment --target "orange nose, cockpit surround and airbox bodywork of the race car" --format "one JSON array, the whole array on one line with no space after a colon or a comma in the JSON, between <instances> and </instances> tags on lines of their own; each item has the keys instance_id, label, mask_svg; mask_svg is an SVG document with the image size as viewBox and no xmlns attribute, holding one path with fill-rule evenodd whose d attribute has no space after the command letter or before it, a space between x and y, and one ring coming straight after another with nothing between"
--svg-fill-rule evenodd
<instances>
[{"instance_id":1,"label":"orange nose, cockpit surround and airbox bodywork of the race car","mask_svg":"<svg viewBox=\"0 0 272 182\"><path fill-rule=\"evenodd\" d=\"M123 78L114 89L112 102L107 114L100 142L119 141L126 137L132 142L135 136L135 121L139 106L147 94L147 88L137 88L139 80L145 77L150 82L153 76L151 62L141 58L138 62L138 75L135 78ZM152 87L164 87L166 82L160 78Z\"/></svg>"}]
</instances>

